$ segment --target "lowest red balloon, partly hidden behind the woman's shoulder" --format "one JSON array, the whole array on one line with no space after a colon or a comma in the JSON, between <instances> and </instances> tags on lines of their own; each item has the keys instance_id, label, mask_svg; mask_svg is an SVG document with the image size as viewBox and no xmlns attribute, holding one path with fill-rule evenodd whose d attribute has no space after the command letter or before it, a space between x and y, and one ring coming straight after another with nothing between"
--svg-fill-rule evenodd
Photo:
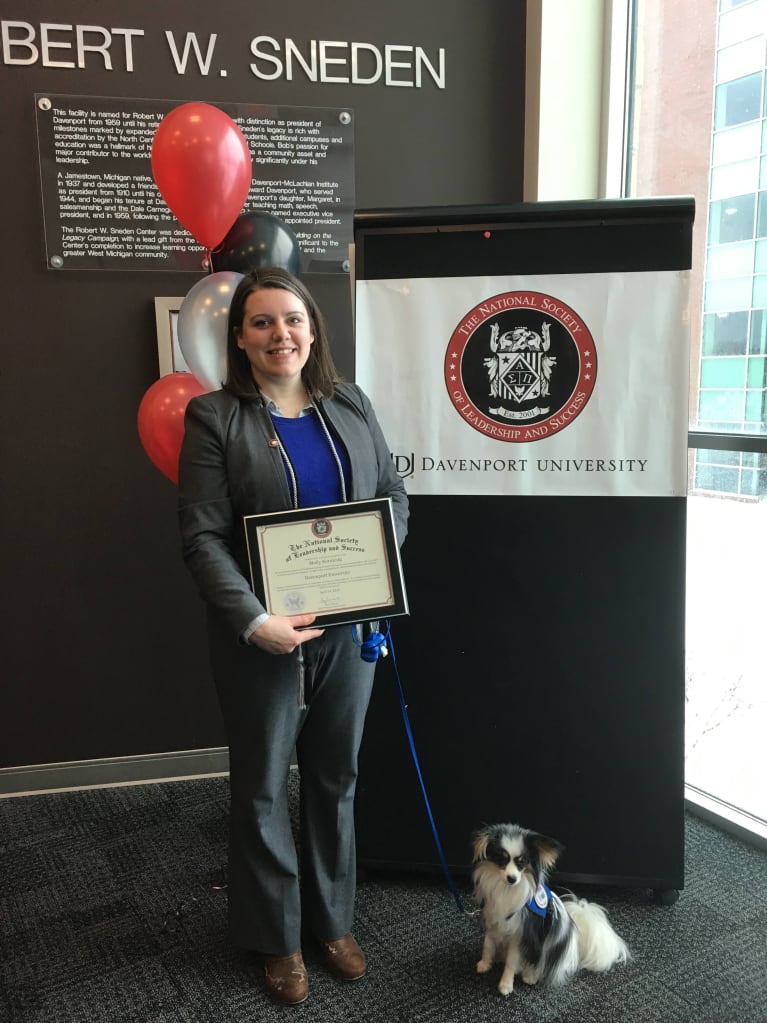
<instances>
[{"instance_id":1,"label":"lowest red balloon, partly hidden behind the woman's shoulder","mask_svg":"<svg viewBox=\"0 0 767 1023\"><path fill-rule=\"evenodd\" d=\"M184 413L206 388L191 373L168 373L154 381L138 406L138 436L161 473L178 483Z\"/></svg>"}]
</instances>

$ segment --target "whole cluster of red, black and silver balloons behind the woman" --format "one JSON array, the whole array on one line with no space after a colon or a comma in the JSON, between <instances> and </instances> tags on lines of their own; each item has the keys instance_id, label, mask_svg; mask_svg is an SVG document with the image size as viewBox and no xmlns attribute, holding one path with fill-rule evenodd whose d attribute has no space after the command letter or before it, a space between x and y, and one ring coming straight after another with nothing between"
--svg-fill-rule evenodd
<instances>
[{"instance_id":1,"label":"whole cluster of red, black and silver balloons behind the woman","mask_svg":"<svg viewBox=\"0 0 767 1023\"><path fill-rule=\"evenodd\" d=\"M178 343L189 372L168 373L148 389L138 434L153 464L174 483L188 402L226 379L229 306L242 275L260 266L301 271L290 227L263 210L240 213L252 179L241 131L223 110L184 103L161 121L151 146L154 182L178 221L208 250L211 272L181 303Z\"/></svg>"}]
</instances>

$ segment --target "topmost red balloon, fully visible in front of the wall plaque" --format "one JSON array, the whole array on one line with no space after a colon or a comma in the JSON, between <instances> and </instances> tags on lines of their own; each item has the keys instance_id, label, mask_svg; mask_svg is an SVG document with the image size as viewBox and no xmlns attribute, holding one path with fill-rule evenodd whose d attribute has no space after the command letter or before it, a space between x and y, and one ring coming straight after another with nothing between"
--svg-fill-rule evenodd
<instances>
[{"instance_id":1,"label":"topmost red balloon, fully visible in front of the wall plaque","mask_svg":"<svg viewBox=\"0 0 767 1023\"><path fill-rule=\"evenodd\" d=\"M171 213L201 246L215 249L247 198L253 164L227 114L210 103L183 103L157 125L151 172Z\"/></svg>"}]
</instances>

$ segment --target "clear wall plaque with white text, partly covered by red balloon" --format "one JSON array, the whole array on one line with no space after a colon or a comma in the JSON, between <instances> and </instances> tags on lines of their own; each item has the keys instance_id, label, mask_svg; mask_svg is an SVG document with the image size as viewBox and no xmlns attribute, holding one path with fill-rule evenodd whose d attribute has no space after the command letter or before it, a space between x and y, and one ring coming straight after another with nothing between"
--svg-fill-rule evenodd
<instances>
[{"instance_id":1,"label":"clear wall plaque with white text, partly covered by red balloon","mask_svg":"<svg viewBox=\"0 0 767 1023\"><path fill-rule=\"evenodd\" d=\"M205 269L206 253L168 209L151 173L162 118L181 101L37 93L47 265L77 270ZM289 224L302 271L347 269L354 215L348 109L216 103L253 158L242 212Z\"/></svg>"}]
</instances>

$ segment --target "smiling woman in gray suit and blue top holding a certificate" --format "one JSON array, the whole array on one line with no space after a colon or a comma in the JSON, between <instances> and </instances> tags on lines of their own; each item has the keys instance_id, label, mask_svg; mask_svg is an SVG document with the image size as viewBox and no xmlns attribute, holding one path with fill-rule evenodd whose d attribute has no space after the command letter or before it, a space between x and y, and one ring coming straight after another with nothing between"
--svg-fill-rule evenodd
<instances>
[{"instance_id":1,"label":"smiling woman in gray suit and blue top holding a certificate","mask_svg":"<svg viewBox=\"0 0 767 1023\"><path fill-rule=\"evenodd\" d=\"M302 934L328 969L365 973L351 934L357 754L374 664L349 626L268 615L249 584L242 517L391 497L398 541L407 497L368 398L342 384L304 284L264 267L232 297L223 390L189 402L179 468L183 554L208 608L211 661L230 752L229 927L265 957L266 984L309 991ZM287 779L301 775L301 883Z\"/></svg>"}]
</instances>

